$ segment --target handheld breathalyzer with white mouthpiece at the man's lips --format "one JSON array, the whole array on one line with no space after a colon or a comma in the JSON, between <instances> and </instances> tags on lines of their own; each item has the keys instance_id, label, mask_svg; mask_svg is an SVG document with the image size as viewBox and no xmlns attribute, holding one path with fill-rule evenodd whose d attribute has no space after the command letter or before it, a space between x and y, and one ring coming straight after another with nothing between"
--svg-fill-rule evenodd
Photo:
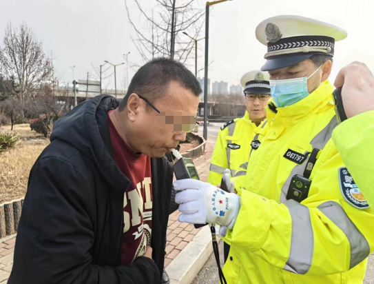
<instances>
[{"instance_id":1,"label":"handheld breathalyzer with white mouthpiece at the man's lips","mask_svg":"<svg viewBox=\"0 0 374 284\"><path fill-rule=\"evenodd\" d=\"M173 155L176 157L176 162L174 162L173 170L176 175L176 179L198 179L198 171L194 165L191 158L183 157L177 150L172 150ZM203 227L207 224L194 224L196 228Z\"/></svg>"}]
</instances>

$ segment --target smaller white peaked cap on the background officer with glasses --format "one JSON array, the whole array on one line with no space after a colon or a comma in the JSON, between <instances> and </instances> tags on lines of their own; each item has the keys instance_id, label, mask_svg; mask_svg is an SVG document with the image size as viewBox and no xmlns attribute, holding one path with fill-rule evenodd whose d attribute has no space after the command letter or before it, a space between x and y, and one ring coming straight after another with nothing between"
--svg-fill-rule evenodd
<instances>
[{"instance_id":1,"label":"smaller white peaked cap on the background officer with glasses","mask_svg":"<svg viewBox=\"0 0 374 284\"><path fill-rule=\"evenodd\" d=\"M240 83L247 94L270 94L269 73L254 70L245 73Z\"/></svg>"}]
</instances>

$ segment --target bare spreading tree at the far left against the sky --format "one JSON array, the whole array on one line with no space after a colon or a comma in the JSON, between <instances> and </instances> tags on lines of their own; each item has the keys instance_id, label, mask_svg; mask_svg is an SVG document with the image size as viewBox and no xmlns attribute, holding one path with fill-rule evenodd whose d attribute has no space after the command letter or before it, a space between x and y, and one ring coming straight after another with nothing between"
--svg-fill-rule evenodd
<instances>
[{"instance_id":1,"label":"bare spreading tree at the far left against the sky","mask_svg":"<svg viewBox=\"0 0 374 284\"><path fill-rule=\"evenodd\" d=\"M9 23L6 28L0 47L0 74L6 79L14 78L17 86L14 94L22 105L41 84L53 80L51 60L25 23L15 29Z\"/></svg>"}]
</instances>

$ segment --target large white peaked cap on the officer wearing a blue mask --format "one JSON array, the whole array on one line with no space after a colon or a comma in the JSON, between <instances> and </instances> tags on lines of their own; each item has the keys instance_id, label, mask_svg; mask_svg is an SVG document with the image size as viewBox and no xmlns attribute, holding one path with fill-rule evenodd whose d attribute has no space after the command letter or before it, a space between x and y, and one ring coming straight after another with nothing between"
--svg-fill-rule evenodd
<instances>
[{"instance_id":1,"label":"large white peaked cap on the officer wearing a blue mask","mask_svg":"<svg viewBox=\"0 0 374 284\"><path fill-rule=\"evenodd\" d=\"M335 41L346 31L329 23L300 16L277 16L262 21L256 37L267 45L262 71L276 70L309 59L314 54L333 56Z\"/></svg>"}]
</instances>

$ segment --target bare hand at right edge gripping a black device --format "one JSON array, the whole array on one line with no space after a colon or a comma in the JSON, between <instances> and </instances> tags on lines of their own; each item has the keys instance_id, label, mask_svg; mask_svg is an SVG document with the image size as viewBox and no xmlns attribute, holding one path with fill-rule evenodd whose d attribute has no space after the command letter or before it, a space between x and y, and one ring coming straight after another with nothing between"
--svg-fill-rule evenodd
<instances>
[{"instance_id":1,"label":"bare hand at right edge gripping a black device","mask_svg":"<svg viewBox=\"0 0 374 284\"><path fill-rule=\"evenodd\" d=\"M364 63L353 62L337 74L336 88L342 88L344 111L348 118L374 110L374 77Z\"/></svg>"}]
</instances>

